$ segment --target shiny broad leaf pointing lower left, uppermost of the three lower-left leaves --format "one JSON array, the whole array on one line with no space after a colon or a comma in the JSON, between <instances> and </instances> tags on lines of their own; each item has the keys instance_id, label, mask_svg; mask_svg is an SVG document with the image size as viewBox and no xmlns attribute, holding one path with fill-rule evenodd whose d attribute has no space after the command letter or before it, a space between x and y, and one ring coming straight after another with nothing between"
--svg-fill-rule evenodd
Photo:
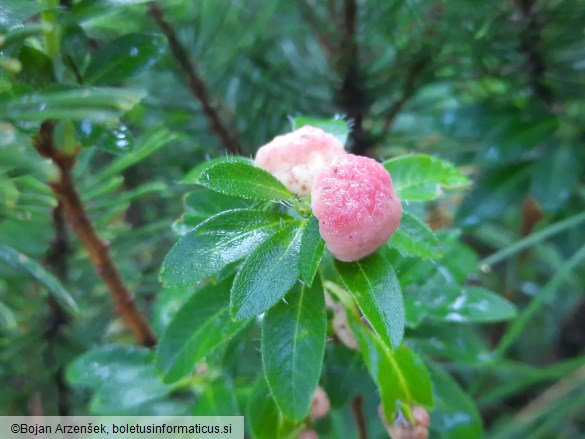
<instances>
[{"instance_id":1,"label":"shiny broad leaf pointing lower left, uppermost of the three lower-left leaves","mask_svg":"<svg viewBox=\"0 0 585 439\"><path fill-rule=\"evenodd\" d=\"M183 236L166 256L166 286L195 284L251 253L291 218L276 212L235 209L212 216Z\"/></svg>"}]
</instances>

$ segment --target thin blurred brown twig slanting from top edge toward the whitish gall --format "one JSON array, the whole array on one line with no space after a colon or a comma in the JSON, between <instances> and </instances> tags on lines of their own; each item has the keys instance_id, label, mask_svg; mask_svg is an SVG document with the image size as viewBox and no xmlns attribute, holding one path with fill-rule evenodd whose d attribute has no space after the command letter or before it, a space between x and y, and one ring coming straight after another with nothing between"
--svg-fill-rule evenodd
<instances>
[{"instance_id":1,"label":"thin blurred brown twig slanting from top edge toward the whitish gall","mask_svg":"<svg viewBox=\"0 0 585 439\"><path fill-rule=\"evenodd\" d=\"M150 15L156 21L158 27L165 34L169 43L171 54L179 65L183 75L187 78L191 94L200 102L201 107L213 132L219 137L223 147L234 154L242 154L239 141L233 138L224 126L217 111L211 104L205 82L197 73L197 67L189 58L189 54L177 38L173 27L165 20L162 8L155 2L149 4Z\"/></svg>"}]
</instances>

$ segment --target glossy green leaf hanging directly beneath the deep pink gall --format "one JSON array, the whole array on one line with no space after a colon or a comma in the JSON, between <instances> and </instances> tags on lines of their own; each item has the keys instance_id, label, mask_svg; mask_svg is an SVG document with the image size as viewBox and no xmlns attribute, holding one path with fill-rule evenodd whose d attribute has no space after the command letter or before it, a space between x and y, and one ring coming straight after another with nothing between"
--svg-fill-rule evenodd
<instances>
[{"instance_id":1,"label":"glossy green leaf hanging directly beneath the deep pink gall","mask_svg":"<svg viewBox=\"0 0 585 439\"><path fill-rule=\"evenodd\" d=\"M394 269L379 252L356 262L335 261L346 288L384 344L397 348L404 335L404 303Z\"/></svg>"}]
</instances>

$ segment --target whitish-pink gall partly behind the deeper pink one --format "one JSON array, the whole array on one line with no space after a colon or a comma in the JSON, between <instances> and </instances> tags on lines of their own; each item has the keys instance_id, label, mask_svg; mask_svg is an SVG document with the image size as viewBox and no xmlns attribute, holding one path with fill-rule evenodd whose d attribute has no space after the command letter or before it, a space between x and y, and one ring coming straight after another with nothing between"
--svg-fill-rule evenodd
<instances>
[{"instance_id":1,"label":"whitish-pink gall partly behind the deeper pink one","mask_svg":"<svg viewBox=\"0 0 585 439\"><path fill-rule=\"evenodd\" d=\"M308 195L315 177L344 153L335 136L305 125L262 146L254 164L270 172L291 192Z\"/></svg>"}]
</instances>

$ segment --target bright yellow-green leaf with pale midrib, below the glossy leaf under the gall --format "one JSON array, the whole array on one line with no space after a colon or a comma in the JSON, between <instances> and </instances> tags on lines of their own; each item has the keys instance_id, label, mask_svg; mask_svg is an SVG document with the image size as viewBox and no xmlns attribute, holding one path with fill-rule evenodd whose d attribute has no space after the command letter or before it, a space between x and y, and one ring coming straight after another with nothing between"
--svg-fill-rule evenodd
<instances>
[{"instance_id":1,"label":"bright yellow-green leaf with pale midrib, below the glossy leaf under the gall","mask_svg":"<svg viewBox=\"0 0 585 439\"><path fill-rule=\"evenodd\" d=\"M348 310L348 320L368 372L380 391L386 419L394 419L399 401L432 407L431 380L422 359L406 345L394 351L387 349L351 310Z\"/></svg>"}]
</instances>

